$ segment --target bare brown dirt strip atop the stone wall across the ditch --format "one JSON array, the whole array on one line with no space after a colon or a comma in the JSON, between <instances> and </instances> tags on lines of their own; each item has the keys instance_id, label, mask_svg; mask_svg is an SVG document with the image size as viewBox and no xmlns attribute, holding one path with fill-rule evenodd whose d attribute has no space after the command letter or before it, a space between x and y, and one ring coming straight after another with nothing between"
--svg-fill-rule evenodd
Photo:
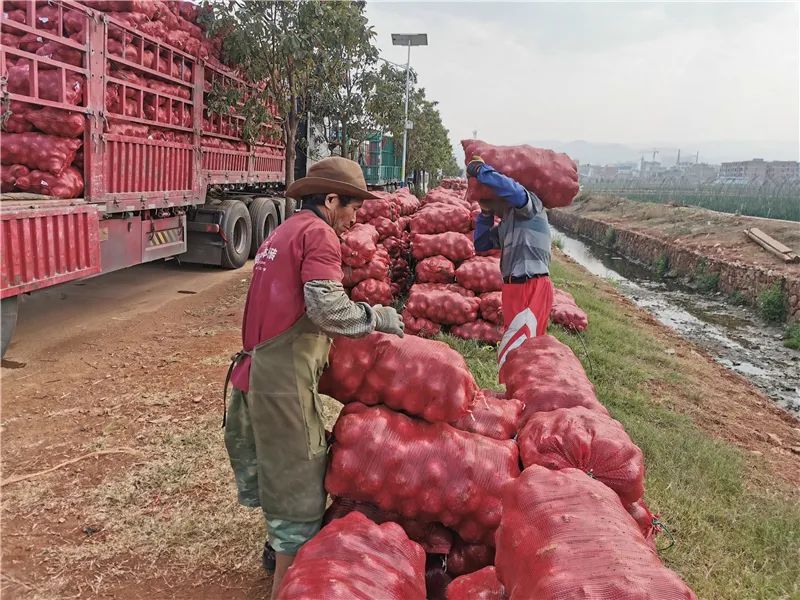
<instances>
[{"instance_id":1,"label":"bare brown dirt strip atop the stone wall across the ditch","mask_svg":"<svg viewBox=\"0 0 800 600\"><path fill-rule=\"evenodd\" d=\"M795 278L800 276L800 263L784 263L743 233L745 229L758 227L800 253L800 224L793 221L742 217L692 206L635 202L600 194L593 194L591 202L575 202L561 210L655 235L706 256L729 262L739 260Z\"/></svg>"}]
</instances>

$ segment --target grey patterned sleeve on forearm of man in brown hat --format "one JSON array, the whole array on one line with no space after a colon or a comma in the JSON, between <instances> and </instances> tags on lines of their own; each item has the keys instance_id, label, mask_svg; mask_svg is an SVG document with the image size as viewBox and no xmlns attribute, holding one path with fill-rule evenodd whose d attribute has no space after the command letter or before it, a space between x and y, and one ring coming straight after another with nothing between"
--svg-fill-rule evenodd
<instances>
[{"instance_id":1,"label":"grey patterned sleeve on forearm of man in brown hat","mask_svg":"<svg viewBox=\"0 0 800 600\"><path fill-rule=\"evenodd\" d=\"M376 315L366 302L353 302L338 281L315 279L303 286L306 314L331 337L361 337L375 331Z\"/></svg>"}]
</instances>

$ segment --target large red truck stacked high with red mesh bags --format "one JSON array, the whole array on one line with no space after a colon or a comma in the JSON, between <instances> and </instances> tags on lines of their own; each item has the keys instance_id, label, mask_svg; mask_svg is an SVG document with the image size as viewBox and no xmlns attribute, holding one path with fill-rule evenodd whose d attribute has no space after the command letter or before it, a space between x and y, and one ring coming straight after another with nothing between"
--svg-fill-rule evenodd
<instances>
[{"instance_id":1,"label":"large red truck stacked high with red mesh bags","mask_svg":"<svg viewBox=\"0 0 800 600\"><path fill-rule=\"evenodd\" d=\"M155 6L131 5L148 11ZM15 110L17 117L47 109L64 115L64 122L76 114L84 121L78 134L82 160L79 151L69 167L74 179L83 179L76 197L57 197L58 182L44 172L12 180L12 171L28 169L10 166L13 161L3 156L4 190L24 180L28 191L50 194L2 195L3 354L22 294L167 258L239 268L294 210L281 194L285 153L274 103L267 103L274 120L260 125L254 141L245 141L245 117L235 106L210 110L210 95L218 86L244 94L255 86L213 52L197 50L208 45L205 40L195 41L197 51L190 53L163 33L151 35L158 21L106 12L124 10L125 2L111 6L0 0L0 154L15 140L51 143L34 132L11 133L11 123L26 129L24 120L12 120ZM170 10L183 10L176 6ZM180 14L151 19L171 23ZM187 22L180 18L191 30ZM171 40L169 28L160 27ZM58 139L57 152L72 144Z\"/></svg>"}]
</instances>

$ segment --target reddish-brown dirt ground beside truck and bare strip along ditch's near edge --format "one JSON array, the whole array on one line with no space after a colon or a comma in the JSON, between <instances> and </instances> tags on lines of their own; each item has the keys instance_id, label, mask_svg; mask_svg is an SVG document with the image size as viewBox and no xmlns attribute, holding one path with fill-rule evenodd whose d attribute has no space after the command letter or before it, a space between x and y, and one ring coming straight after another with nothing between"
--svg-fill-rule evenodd
<instances>
[{"instance_id":1,"label":"reddish-brown dirt ground beside truck and bare strip along ditch's near edge","mask_svg":"<svg viewBox=\"0 0 800 600\"><path fill-rule=\"evenodd\" d=\"M93 300L105 297L99 278L95 292L65 287L23 316L2 369L3 598L267 595L262 519L236 504L220 429L249 273L190 272L189 288L181 276L165 286L163 273L140 275L145 284L131 290L152 283L155 304L133 293ZM797 421L619 301L707 383L703 406L714 408L675 390L665 401L762 454L765 486L800 489Z\"/></svg>"}]
</instances>

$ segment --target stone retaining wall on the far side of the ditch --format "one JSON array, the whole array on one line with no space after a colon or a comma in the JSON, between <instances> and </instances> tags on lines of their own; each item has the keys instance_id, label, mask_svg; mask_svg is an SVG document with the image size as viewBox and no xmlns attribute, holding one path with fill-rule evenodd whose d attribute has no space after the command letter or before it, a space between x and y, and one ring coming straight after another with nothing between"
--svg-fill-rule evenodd
<instances>
[{"instance_id":1,"label":"stone retaining wall on the far side of the ditch","mask_svg":"<svg viewBox=\"0 0 800 600\"><path fill-rule=\"evenodd\" d=\"M716 257L705 256L696 250L682 248L667 240L631 231L606 223L560 210L549 210L550 222L572 234L577 234L599 244L605 244L609 229L613 230L614 249L625 258L635 260L655 268L662 256L669 261L669 270L681 277L696 276L698 273L718 273L717 289L725 294L739 292L745 300L756 305L759 294L776 283L783 285L788 300L789 321L800 321L800 278L784 277L772 269L764 269L743 262L727 262Z\"/></svg>"}]
</instances>

